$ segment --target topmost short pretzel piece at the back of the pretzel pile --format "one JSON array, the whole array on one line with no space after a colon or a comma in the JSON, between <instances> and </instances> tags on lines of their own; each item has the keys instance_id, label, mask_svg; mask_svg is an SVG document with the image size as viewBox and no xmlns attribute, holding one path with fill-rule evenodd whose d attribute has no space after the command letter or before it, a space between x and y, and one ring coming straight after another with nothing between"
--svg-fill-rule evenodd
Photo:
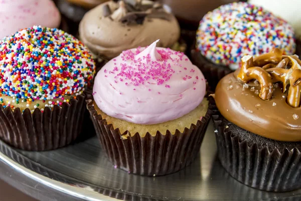
<instances>
[{"instance_id":1,"label":"topmost short pretzel piece at the back of the pretzel pile","mask_svg":"<svg viewBox=\"0 0 301 201\"><path fill-rule=\"evenodd\" d=\"M279 63L282 60L282 50L274 48L266 54L262 54L254 58L255 66L264 66L269 63Z\"/></svg>"}]
</instances>

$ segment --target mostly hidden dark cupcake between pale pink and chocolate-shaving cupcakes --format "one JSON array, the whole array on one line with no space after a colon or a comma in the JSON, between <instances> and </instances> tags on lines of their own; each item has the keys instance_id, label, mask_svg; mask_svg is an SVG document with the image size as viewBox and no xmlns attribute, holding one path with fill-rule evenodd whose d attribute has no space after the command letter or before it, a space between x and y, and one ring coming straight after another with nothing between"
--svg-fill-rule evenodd
<instances>
[{"instance_id":1,"label":"mostly hidden dark cupcake between pale pink and chocolate-shaving cupcakes","mask_svg":"<svg viewBox=\"0 0 301 201\"><path fill-rule=\"evenodd\" d=\"M108 0L56 0L56 4L67 22L68 31L74 36L78 33L78 25L90 9Z\"/></svg>"}]
</instances>

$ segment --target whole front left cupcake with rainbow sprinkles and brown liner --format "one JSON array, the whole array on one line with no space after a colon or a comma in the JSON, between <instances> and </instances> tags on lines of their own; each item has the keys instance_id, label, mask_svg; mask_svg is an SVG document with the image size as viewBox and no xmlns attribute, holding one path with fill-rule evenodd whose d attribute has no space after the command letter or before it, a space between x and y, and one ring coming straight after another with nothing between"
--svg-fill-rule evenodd
<instances>
[{"instance_id":1,"label":"whole front left cupcake with rainbow sprinkles and brown liner","mask_svg":"<svg viewBox=\"0 0 301 201\"><path fill-rule=\"evenodd\" d=\"M24 150L70 144L81 131L89 51L59 29L34 26L0 41L0 139Z\"/></svg>"}]
</instances>

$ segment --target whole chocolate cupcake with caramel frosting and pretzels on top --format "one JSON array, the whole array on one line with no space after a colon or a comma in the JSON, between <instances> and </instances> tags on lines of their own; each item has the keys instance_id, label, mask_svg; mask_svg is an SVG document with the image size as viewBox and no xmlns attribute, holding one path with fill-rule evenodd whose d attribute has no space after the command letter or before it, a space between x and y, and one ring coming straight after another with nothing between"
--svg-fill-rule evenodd
<instances>
[{"instance_id":1,"label":"whole chocolate cupcake with caramel frosting and pretzels on top","mask_svg":"<svg viewBox=\"0 0 301 201\"><path fill-rule=\"evenodd\" d=\"M301 60L282 54L242 57L214 94L219 160L238 181L267 191L301 188Z\"/></svg>"}]
</instances>

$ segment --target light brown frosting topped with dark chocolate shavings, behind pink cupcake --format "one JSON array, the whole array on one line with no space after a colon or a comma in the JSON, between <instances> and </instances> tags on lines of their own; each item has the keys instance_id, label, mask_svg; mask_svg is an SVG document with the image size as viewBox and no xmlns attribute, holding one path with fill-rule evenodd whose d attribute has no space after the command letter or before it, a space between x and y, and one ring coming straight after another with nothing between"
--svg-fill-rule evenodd
<instances>
[{"instance_id":1,"label":"light brown frosting topped with dark chocolate shavings, behind pink cupcake","mask_svg":"<svg viewBox=\"0 0 301 201\"><path fill-rule=\"evenodd\" d=\"M79 34L94 55L111 59L124 50L147 46L157 39L158 46L171 47L180 38L180 27L159 3L110 1L86 13Z\"/></svg>"}]
</instances>

